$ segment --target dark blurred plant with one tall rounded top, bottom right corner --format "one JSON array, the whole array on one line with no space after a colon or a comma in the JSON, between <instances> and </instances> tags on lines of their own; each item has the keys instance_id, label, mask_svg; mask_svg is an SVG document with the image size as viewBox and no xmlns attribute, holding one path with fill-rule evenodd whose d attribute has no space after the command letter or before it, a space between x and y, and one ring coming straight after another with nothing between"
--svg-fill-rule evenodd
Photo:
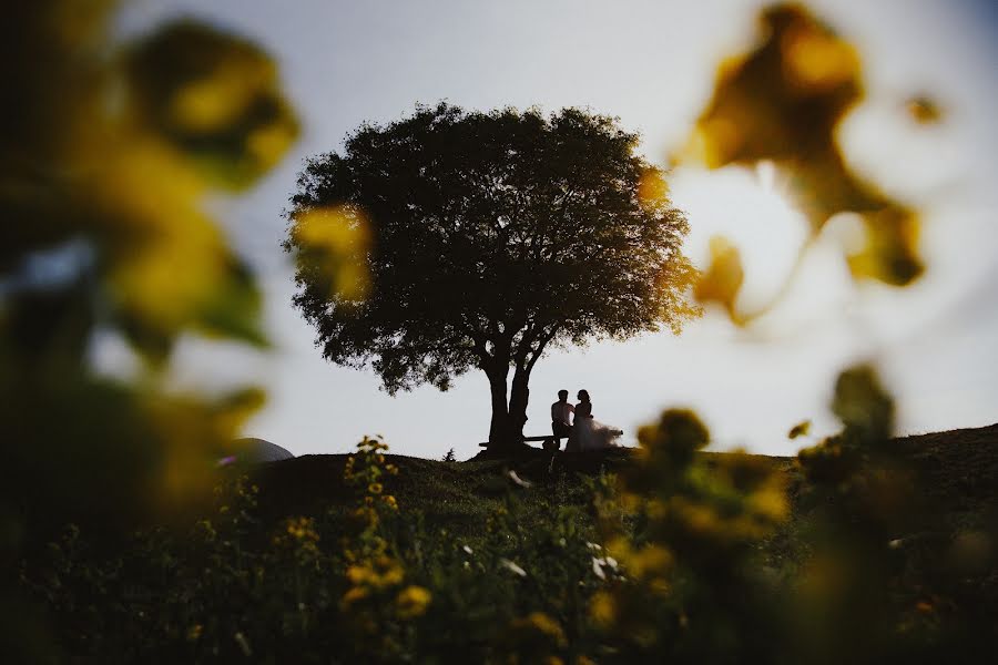
<instances>
[{"instance_id":1,"label":"dark blurred plant with one tall rounded top, bottom right corner","mask_svg":"<svg viewBox=\"0 0 998 665\"><path fill-rule=\"evenodd\" d=\"M966 600L954 581L967 570L949 554L951 534L972 530L927 501L916 450L892 439L894 403L876 372L844 371L833 410L843 431L798 454L811 518L801 524L809 555L791 605L795 640L816 663L967 662L989 649L994 607ZM987 584L979 571L977 583Z\"/></svg>"}]
</instances>

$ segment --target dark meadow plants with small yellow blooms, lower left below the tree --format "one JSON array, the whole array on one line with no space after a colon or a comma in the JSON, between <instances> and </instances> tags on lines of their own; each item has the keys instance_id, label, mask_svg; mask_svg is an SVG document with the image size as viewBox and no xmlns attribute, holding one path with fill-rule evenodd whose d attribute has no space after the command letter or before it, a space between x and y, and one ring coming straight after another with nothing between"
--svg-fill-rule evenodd
<instances>
[{"instance_id":1,"label":"dark meadow plants with small yellow blooms, lower left below the tree","mask_svg":"<svg viewBox=\"0 0 998 665\"><path fill-rule=\"evenodd\" d=\"M79 658L539 663L593 651L587 600L617 563L587 540L578 507L507 481L485 529L456 538L399 505L390 492L405 479L386 452L361 441L343 471L349 499L315 515L263 525L261 488L235 477L180 535L144 530L101 556L71 526L22 584ZM536 528L528 500L543 502Z\"/></svg>"}]
</instances>

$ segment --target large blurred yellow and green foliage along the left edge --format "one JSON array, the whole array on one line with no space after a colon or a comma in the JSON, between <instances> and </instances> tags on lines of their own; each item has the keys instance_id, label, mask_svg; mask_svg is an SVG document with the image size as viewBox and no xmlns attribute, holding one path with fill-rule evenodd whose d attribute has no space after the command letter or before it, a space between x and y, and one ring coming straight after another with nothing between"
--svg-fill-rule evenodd
<instances>
[{"instance_id":1,"label":"large blurred yellow and green foliage along the left edge","mask_svg":"<svg viewBox=\"0 0 998 665\"><path fill-rule=\"evenodd\" d=\"M0 22L4 561L68 520L110 534L190 502L262 401L170 395L160 372L184 334L265 345L205 198L267 171L296 120L252 43L193 21L123 43L116 9L40 0ZM134 379L94 374L98 336L124 341ZM41 655L14 635L14 661Z\"/></svg>"}]
</instances>

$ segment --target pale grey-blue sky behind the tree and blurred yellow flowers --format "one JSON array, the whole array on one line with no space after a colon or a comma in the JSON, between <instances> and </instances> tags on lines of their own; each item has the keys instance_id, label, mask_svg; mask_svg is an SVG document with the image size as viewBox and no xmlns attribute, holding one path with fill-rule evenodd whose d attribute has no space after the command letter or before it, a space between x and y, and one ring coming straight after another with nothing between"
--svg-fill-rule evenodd
<instances>
[{"instance_id":1,"label":"pale grey-blue sky behind the tree and blurred yellow flowers","mask_svg":"<svg viewBox=\"0 0 998 665\"><path fill-rule=\"evenodd\" d=\"M371 371L332 366L291 305L293 266L279 243L282 211L308 155L342 147L366 121L390 122L417 103L468 109L585 106L641 133L664 164L707 102L715 68L751 48L748 0L371 1L139 0L123 17L141 32L192 16L254 38L276 59L304 132L253 192L211 202L235 249L255 268L274 348L261 354L185 338L170 381L179 390L266 388L267 406L245 428L296 454L346 452L364 434L393 451L475 454L489 428L488 383L470 371L447 392L388 396ZM747 329L709 311L674 337L551 351L533 371L527 433L547 433L560 388L592 395L597 419L635 429L666 407L695 409L713 448L792 454L835 431L835 377L872 361L897 398L899 433L998 421L998 40L988 2L816 1L818 16L854 41L867 96L839 129L849 163L924 214L926 276L898 290L854 284L843 262L848 218L829 224L778 307ZM904 112L929 93L943 122L917 126ZM707 242L725 234L745 260L741 304L762 304L787 276L803 217L765 168L673 172L673 203L690 219L684 252L703 267ZM99 366L123 360L102 340ZM811 419L812 438L787 440Z\"/></svg>"}]
</instances>

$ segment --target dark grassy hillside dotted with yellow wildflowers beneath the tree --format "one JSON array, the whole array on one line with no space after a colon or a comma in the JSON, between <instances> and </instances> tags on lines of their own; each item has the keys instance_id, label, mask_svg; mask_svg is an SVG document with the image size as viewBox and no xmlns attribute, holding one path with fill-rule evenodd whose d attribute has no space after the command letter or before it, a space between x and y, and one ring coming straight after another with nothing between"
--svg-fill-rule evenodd
<instances>
[{"instance_id":1,"label":"dark grassy hillside dotted with yellow wildflowers beneath the tree","mask_svg":"<svg viewBox=\"0 0 998 665\"><path fill-rule=\"evenodd\" d=\"M81 662L966 661L998 635L998 426L890 449L833 483L696 453L640 504L601 482L628 449L304 456L222 469L186 530L73 528L22 583ZM739 488L774 478L760 521Z\"/></svg>"}]
</instances>

